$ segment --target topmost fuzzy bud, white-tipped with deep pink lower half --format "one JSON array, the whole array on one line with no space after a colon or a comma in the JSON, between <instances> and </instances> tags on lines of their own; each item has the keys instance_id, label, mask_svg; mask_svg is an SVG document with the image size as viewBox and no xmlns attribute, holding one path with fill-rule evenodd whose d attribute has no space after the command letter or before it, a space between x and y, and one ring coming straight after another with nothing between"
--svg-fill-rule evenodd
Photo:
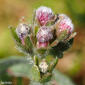
<instances>
[{"instance_id":1,"label":"topmost fuzzy bud, white-tipped with deep pink lower half","mask_svg":"<svg viewBox=\"0 0 85 85\"><path fill-rule=\"evenodd\" d=\"M53 18L53 16L53 12L50 8L41 6L36 10L36 18L41 26L45 25L49 20Z\"/></svg>"}]
</instances>

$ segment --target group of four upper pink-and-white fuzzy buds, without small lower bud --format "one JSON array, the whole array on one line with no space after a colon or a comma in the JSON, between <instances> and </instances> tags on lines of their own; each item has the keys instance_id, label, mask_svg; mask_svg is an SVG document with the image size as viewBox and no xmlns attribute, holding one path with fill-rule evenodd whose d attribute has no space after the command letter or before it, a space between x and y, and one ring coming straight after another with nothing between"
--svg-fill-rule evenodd
<instances>
[{"instance_id":1,"label":"group of four upper pink-and-white fuzzy buds, without small lower bud","mask_svg":"<svg viewBox=\"0 0 85 85\"><path fill-rule=\"evenodd\" d=\"M52 40L54 41L54 36L56 37L55 40L58 40L59 42L67 39L74 29L72 21L68 16L65 14L55 15L51 8L44 6L41 6L36 10L35 20L39 23L37 34L35 36L37 39L36 48L38 49L47 48L48 45L50 45L49 42ZM47 26L46 23L48 22L54 22L54 24ZM23 45L25 44L24 39L28 36L30 30L29 26L24 23L20 23L16 28L16 33Z\"/></svg>"}]
</instances>

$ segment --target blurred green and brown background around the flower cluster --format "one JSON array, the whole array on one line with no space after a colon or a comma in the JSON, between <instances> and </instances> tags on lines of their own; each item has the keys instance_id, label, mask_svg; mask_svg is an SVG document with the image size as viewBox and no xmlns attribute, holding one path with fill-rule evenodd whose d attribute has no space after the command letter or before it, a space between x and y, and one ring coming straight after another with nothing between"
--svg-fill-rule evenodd
<instances>
[{"instance_id":1,"label":"blurred green and brown background around the flower cluster","mask_svg":"<svg viewBox=\"0 0 85 85\"><path fill-rule=\"evenodd\" d=\"M17 26L22 16L30 23L33 10L39 6L48 6L54 13L65 13L72 19L77 36L56 68L77 85L85 85L85 0L0 0L0 59L23 55L15 48L8 26Z\"/></svg>"}]
</instances>

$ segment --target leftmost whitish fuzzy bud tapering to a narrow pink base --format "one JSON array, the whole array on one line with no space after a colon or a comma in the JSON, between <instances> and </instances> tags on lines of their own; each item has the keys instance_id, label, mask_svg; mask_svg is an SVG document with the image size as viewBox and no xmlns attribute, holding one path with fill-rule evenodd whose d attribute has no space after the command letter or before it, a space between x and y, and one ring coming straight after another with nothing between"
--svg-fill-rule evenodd
<instances>
[{"instance_id":1,"label":"leftmost whitish fuzzy bud tapering to a narrow pink base","mask_svg":"<svg viewBox=\"0 0 85 85\"><path fill-rule=\"evenodd\" d=\"M29 33L29 27L26 24L20 23L16 28L16 33L18 37L21 39L22 44L24 45L24 39Z\"/></svg>"}]
</instances>

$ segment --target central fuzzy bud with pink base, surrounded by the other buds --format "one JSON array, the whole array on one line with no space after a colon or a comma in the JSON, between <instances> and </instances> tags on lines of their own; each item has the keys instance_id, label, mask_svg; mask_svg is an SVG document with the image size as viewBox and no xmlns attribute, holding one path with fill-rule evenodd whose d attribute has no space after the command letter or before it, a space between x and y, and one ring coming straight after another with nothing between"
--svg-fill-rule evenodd
<instances>
[{"instance_id":1,"label":"central fuzzy bud with pink base, surrounded by the other buds","mask_svg":"<svg viewBox=\"0 0 85 85\"><path fill-rule=\"evenodd\" d=\"M47 47L49 41L53 38L52 31L49 27L42 26L37 33L38 47Z\"/></svg>"}]
</instances>

